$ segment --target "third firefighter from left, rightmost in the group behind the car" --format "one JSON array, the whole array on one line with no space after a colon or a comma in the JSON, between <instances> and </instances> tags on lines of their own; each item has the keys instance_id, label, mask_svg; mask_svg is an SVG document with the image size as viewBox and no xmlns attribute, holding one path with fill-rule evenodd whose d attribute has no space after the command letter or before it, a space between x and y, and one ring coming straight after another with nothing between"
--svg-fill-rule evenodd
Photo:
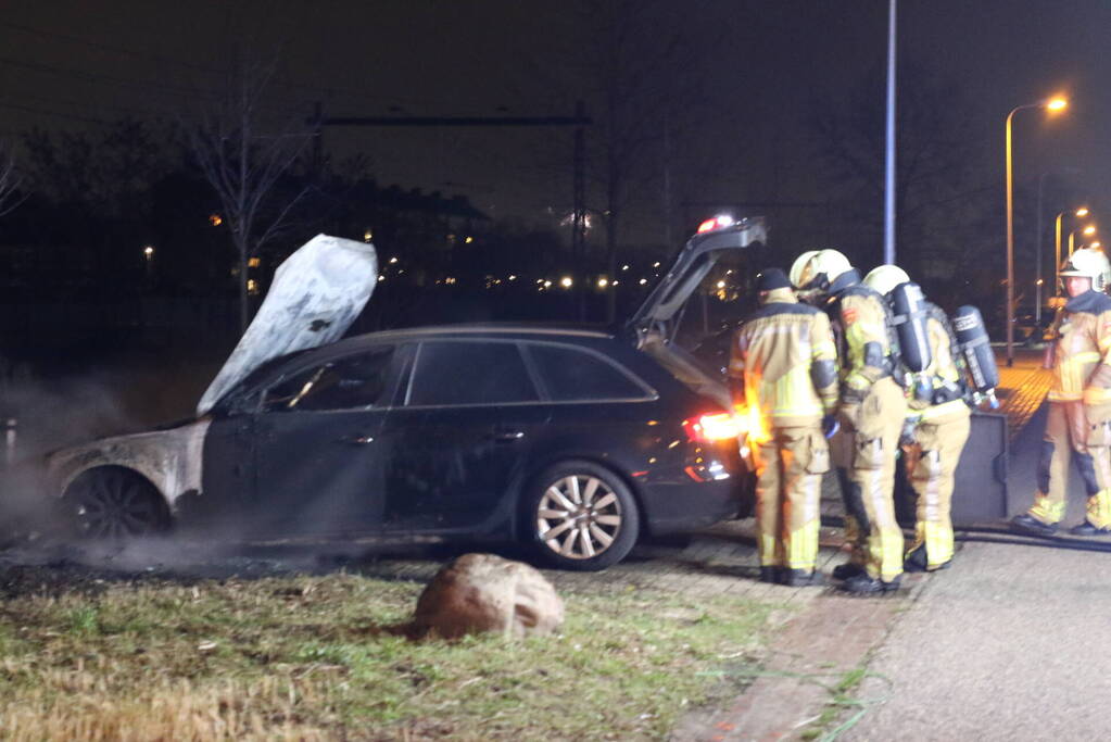
<instances>
[{"instance_id":1,"label":"third firefighter from left, rightmost in the group behind the car","mask_svg":"<svg viewBox=\"0 0 1111 742\"><path fill-rule=\"evenodd\" d=\"M880 265L864 277L864 283L884 297L909 281L898 265ZM952 327L935 304L927 308L931 360L919 375L920 383L908 393L902 441L907 477L918 495L914 542L903 560L908 572L942 570L953 558L949 517L953 475L971 424Z\"/></svg>"}]
</instances>

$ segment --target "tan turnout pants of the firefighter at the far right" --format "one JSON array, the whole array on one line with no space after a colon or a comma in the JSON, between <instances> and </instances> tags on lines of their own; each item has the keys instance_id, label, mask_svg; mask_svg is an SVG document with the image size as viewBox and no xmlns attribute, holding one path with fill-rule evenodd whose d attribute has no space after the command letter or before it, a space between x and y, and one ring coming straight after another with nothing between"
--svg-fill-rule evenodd
<instances>
[{"instance_id":1,"label":"tan turnout pants of the firefighter at the far right","mask_svg":"<svg viewBox=\"0 0 1111 742\"><path fill-rule=\"evenodd\" d=\"M1064 518L1069 461L1088 494L1088 521L1111 528L1111 421L1091 422L1083 402L1050 402L1038 462L1038 495L1029 514L1042 523Z\"/></svg>"}]
</instances>

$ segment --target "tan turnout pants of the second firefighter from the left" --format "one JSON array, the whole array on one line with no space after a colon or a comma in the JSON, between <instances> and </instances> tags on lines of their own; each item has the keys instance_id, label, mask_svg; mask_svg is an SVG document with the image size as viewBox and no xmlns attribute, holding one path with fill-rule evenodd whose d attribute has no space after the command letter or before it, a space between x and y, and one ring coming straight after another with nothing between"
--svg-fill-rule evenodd
<instances>
[{"instance_id":1,"label":"tan turnout pants of the second firefighter from the left","mask_svg":"<svg viewBox=\"0 0 1111 742\"><path fill-rule=\"evenodd\" d=\"M907 417L907 400L890 377L880 379L833 443L833 463L844 498L845 540L850 561L871 578L891 582L902 574L902 529L892 499L895 452Z\"/></svg>"}]
</instances>

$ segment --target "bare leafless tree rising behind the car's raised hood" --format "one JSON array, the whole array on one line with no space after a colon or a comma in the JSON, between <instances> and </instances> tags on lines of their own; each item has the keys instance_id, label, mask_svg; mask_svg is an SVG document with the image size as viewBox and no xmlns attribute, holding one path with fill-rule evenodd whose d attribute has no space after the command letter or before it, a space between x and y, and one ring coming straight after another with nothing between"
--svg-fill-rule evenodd
<instances>
[{"instance_id":1,"label":"bare leafless tree rising behind the car's raised hood","mask_svg":"<svg viewBox=\"0 0 1111 742\"><path fill-rule=\"evenodd\" d=\"M193 158L223 210L239 259L241 330L250 322L250 259L290 225L290 215L311 187L289 180L312 140L304 118L273 114L264 107L277 59L259 63L240 59L231 66L224 89L212 106L182 129Z\"/></svg>"}]
</instances>

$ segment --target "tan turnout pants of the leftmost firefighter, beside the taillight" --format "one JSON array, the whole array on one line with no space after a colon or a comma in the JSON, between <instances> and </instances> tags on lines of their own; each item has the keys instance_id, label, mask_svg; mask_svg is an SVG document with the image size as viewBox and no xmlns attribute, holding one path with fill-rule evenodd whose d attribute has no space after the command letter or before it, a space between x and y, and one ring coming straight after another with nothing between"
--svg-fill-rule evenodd
<instances>
[{"instance_id":1,"label":"tan turnout pants of the leftmost firefighter, beside the taillight","mask_svg":"<svg viewBox=\"0 0 1111 742\"><path fill-rule=\"evenodd\" d=\"M812 572L822 473L830 467L821 425L772 427L769 440L753 452L760 565Z\"/></svg>"}]
</instances>

